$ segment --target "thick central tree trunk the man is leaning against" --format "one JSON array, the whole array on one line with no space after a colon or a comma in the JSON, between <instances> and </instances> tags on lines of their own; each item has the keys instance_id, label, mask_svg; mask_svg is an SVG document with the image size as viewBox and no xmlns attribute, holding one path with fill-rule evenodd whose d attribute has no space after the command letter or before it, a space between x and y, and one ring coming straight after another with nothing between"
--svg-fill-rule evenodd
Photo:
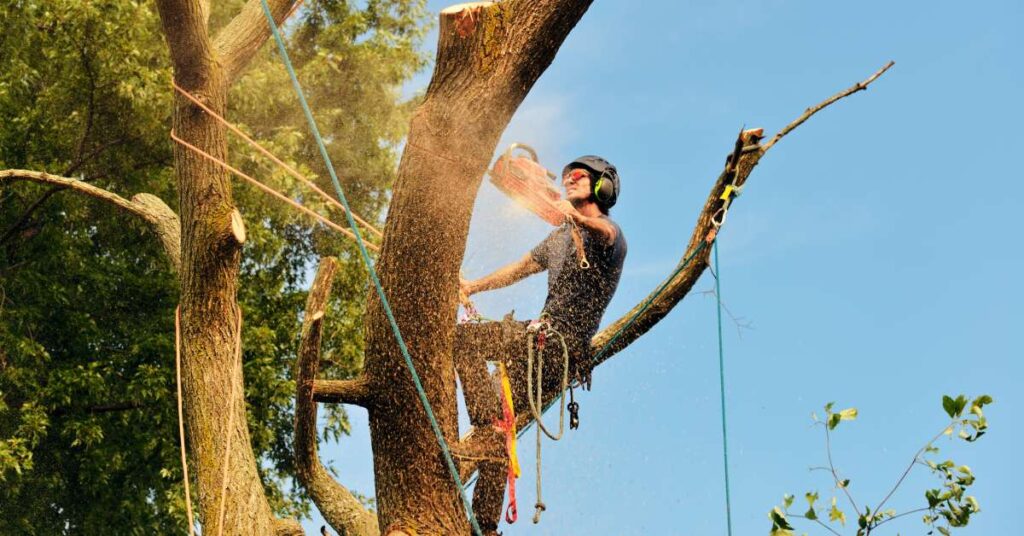
<instances>
[{"instance_id":1,"label":"thick central tree trunk the man is leaning against","mask_svg":"<svg viewBox=\"0 0 1024 536\"><path fill-rule=\"evenodd\" d=\"M446 441L457 439L452 342L470 212L502 131L589 0L464 4L411 123L377 269ZM367 314L366 375L384 532L467 534L466 514L381 302Z\"/></svg>"}]
</instances>

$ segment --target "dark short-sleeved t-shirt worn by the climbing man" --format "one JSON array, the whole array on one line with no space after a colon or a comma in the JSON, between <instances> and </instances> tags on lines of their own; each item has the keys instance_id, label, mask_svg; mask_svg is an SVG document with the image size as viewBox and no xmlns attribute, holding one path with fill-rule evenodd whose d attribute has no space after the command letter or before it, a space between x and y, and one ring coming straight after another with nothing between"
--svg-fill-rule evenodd
<instances>
[{"instance_id":1,"label":"dark short-sleeved t-shirt worn by the climbing man","mask_svg":"<svg viewBox=\"0 0 1024 536\"><path fill-rule=\"evenodd\" d=\"M618 286L626 260L623 231L607 216L601 217L615 225L615 241L608 245L600 234L581 226L584 251L590 262L587 270L580 267L568 224L553 231L530 251L534 260L548 271L544 313L555 322L566 342L569 339L577 342L580 352L589 349L590 339L597 333L604 310Z\"/></svg>"}]
</instances>

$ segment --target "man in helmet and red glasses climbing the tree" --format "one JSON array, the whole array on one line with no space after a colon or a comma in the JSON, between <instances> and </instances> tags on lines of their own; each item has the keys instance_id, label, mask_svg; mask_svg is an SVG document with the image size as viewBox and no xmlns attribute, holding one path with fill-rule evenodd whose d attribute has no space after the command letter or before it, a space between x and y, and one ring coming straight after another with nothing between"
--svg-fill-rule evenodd
<instances>
[{"instance_id":1,"label":"man in helmet and red glasses climbing the tree","mask_svg":"<svg viewBox=\"0 0 1024 536\"><path fill-rule=\"evenodd\" d=\"M618 172L607 160L580 157L562 170L566 199L558 202L566 223L519 260L473 281L462 281L467 297L477 292L507 287L528 276L548 271L548 297L541 320L564 337L569 358L569 377L590 388L590 340L618 285L626 259L626 238L608 217L618 198ZM473 496L473 509L484 531L495 532L504 495L505 453L503 438L492 424L501 417L500 399L488 379L485 360L505 360L512 383L513 402L526 408L527 325L513 322L473 326L467 344L456 351L459 376L466 394L470 419L479 432L478 443L463 456L498 460L480 464L480 478ZM473 345L469 345L473 344ZM561 388L563 354L558 341L538 359L547 371L540 388ZM536 366L536 365L535 365ZM535 386L535 389L538 388ZM536 395L535 395L536 396Z\"/></svg>"}]
</instances>

